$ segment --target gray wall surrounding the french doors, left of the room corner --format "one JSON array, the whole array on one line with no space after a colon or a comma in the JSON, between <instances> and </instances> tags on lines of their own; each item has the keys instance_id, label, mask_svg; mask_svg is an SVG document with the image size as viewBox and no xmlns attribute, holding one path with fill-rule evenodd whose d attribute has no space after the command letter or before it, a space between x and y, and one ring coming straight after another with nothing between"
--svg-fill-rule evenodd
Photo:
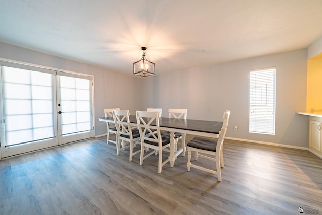
<instances>
[{"instance_id":1,"label":"gray wall surrounding the french doors, left of the room corner","mask_svg":"<svg viewBox=\"0 0 322 215\"><path fill-rule=\"evenodd\" d=\"M136 92L140 90L141 79L137 77L1 42L0 58L93 75L96 136L106 133L106 123L97 119L104 117L104 108L120 107L132 114L140 108Z\"/></svg>"}]
</instances>

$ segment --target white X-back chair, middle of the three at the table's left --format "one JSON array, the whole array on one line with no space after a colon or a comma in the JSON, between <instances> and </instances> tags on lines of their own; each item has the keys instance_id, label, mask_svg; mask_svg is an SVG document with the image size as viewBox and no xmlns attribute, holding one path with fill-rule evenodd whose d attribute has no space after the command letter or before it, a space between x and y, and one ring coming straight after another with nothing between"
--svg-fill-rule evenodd
<instances>
[{"instance_id":1,"label":"white X-back chair, middle of the three at the table's left","mask_svg":"<svg viewBox=\"0 0 322 215\"><path fill-rule=\"evenodd\" d=\"M133 127L130 124L130 111L129 110L113 110L113 119L117 130L117 152L119 155L121 150L130 147L130 161L132 161L133 155L139 153L141 150L137 150L133 153L136 143L140 143L140 132L137 127ZM121 144L123 142L122 148ZM125 145L124 141L129 145Z\"/></svg>"}]
</instances>

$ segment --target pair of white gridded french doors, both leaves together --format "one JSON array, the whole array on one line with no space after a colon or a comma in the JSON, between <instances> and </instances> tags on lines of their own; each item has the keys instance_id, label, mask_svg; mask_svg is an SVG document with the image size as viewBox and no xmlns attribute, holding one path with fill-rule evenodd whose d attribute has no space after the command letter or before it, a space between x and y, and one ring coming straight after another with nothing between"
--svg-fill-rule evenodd
<instances>
[{"instance_id":1,"label":"pair of white gridded french doors, both leaves together","mask_svg":"<svg viewBox=\"0 0 322 215\"><path fill-rule=\"evenodd\" d=\"M92 77L1 67L1 157L93 137Z\"/></svg>"}]
</instances>

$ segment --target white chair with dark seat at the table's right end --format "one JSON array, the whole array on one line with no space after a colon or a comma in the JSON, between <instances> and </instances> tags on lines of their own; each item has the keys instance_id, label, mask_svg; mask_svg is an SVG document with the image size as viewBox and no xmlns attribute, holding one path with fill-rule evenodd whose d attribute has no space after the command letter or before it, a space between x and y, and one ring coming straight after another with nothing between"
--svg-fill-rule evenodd
<instances>
[{"instance_id":1,"label":"white chair with dark seat at the table's right end","mask_svg":"<svg viewBox=\"0 0 322 215\"><path fill-rule=\"evenodd\" d=\"M224 168L223 141L226 135L229 117L230 117L230 111L226 110L223 114L223 124L222 124L221 131L219 133L219 138L217 140L203 138L203 137L194 137L191 141L188 142L187 144L187 151L188 151L187 170L188 171L190 171L190 167L193 167L196 169L200 169L200 170L215 174L218 177L218 181L222 180L221 167ZM198 160L198 157L201 157L211 161L215 161L216 170L192 164L191 163L192 151L195 152L196 160Z\"/></svg>"}]
</instances>

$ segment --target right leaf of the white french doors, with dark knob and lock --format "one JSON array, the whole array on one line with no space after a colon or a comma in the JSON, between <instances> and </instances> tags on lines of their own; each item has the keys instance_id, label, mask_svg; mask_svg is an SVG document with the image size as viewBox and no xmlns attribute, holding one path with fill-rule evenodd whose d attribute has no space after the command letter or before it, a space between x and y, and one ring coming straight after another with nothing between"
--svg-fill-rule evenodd
<instances>
[{"instance_id":1,"label":"right leaf of the white french doors, with dark knob and lock","mask_svg":"<svg viewBox=\"0 0 322 215\"><path fill-rule=\"evenodd\" d=\"M59 144L93 137L92 81L57 76Z\"/></svg>"}]
</instances>

